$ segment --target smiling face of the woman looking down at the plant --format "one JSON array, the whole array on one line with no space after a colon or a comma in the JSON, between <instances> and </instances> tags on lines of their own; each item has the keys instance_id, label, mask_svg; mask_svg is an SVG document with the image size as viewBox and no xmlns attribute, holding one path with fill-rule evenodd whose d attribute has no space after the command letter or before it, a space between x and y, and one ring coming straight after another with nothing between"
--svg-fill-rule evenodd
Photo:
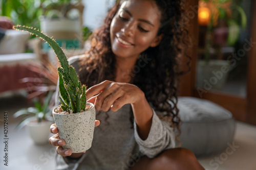
<instances>
[{"instance_id":1,"label":"smiling face of the woman looking down at the plant","mask_svg":"<svg viewBox=\"0 0 256 170\"><path fill-rule=\"evenodd\" d=\"M148 47L157 46L161 13L155 2L146 0L124 1L110 26L112 51L116 57L138 58Z\"/></svg>"}]
</instances>

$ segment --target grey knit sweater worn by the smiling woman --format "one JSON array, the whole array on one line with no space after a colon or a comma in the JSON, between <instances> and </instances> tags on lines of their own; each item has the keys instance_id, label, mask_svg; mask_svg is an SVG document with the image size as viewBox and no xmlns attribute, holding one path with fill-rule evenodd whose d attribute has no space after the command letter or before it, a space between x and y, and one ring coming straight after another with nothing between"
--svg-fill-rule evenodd
<instances>
[{"instance_id":1,"label":"grey knit sweater worn by the smiling woman","mask_svg":"<svg viewBox=\"0 0 256 170\"><path fill-rule=\"evenodd\" d=\"M77 59L70 60L76 69ZM56 154L56 169L129 169L143 155L154 158L163 150L175 147L173 129L160 120L154 110L150 133L142 140L135 121L131 123L131 109L131 105L126 104L117 112L109 110L98 114L97 111L96 119L101 123L95 128L92 147L79 159Z\"/></svg>"}]
</instances>

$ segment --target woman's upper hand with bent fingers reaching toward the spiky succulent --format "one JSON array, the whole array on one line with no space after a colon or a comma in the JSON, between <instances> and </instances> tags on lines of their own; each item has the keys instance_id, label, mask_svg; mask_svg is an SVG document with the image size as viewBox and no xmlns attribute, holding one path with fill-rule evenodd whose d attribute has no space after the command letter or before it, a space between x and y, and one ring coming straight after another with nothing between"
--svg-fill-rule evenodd
<instances>
[{"instance_id":1,"label":"woman's upper hand with bent fingers reaching toward the spiky succulent","mask_svg":"<svg viewBox=\"0 0 256 170\"><path fill-rule=\"evenodd\" d=\"M96 110L108 111L111 108L114 112L125 104L136 105L145 98L143 91L133 84L108 80L89 88L86 96Z\"/></svg>"}]
</instances>

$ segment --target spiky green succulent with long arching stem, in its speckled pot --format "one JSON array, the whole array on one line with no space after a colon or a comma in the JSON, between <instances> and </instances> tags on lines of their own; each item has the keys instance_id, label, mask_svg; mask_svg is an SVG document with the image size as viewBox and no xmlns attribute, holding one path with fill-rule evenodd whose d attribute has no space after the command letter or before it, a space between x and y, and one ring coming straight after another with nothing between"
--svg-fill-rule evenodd
<instances>
[{"instance_id":1,"label":"spiky green succulent with long arching stem, in its speckled pot","mask_svg":"<svg viewBox=\"0 0 256 170\"><path fill-rule=\"evenodd\" d=\"M28 31L46 40L53 48L60 63L58 75L61 105L55 107L52 113L59 136L66 141L63 148L71 149L72 153L88 150L93 139L96 111L95 106L86 101L86 86L81 85L75 69L69 65L67 57L55 40L33 28L17 25L14 29Z\"/></svg>"}]
</instances>

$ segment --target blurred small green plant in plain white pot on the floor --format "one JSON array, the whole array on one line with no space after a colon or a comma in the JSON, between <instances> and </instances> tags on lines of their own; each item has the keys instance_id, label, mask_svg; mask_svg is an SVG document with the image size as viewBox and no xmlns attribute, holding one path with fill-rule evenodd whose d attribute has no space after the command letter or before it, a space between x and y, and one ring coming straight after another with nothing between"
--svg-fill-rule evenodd
<instances>
[{"instance_id":1,"label":"blurred small green plant in plain white pot on the floor","mask_svg":"<svg viewBox=\"0 0 256 170\"><path fill-rule=\"evenodd\" d=\"M17 125L17 129L26 126L26 129L35 144L46 144L49 139L49 128L53 123L49 104L53 91L50 91L44 104L35 102L35 107L23 108L14 113L14 117L22 117L23 120Z\"/></svg>"}]
</instances>

